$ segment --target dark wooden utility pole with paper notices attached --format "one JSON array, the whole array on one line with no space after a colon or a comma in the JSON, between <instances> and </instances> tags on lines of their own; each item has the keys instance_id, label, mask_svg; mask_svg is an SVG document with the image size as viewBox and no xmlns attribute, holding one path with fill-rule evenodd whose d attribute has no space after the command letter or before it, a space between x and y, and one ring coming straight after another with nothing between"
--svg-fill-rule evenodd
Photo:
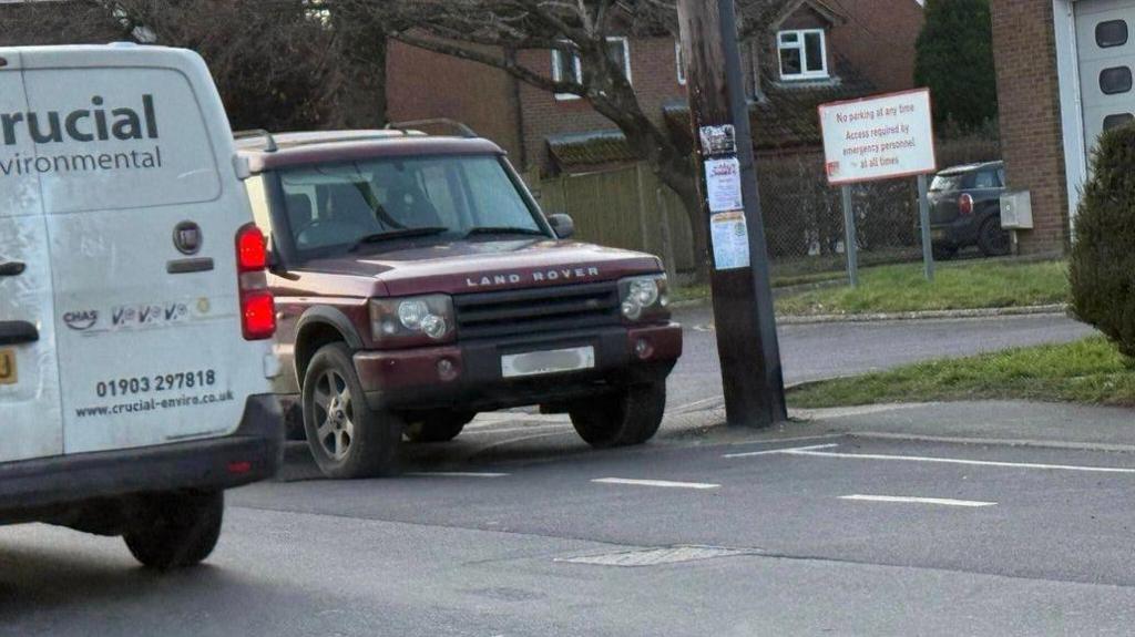
<instances>
[{"instance_id":1,"label":"dark wooden utility pole with paper notices attached","mask_svg":"<svg viewBox=\"0 0 1135 637\"><path fill-rule=\"evenodd\" d=\"M730 425L766 427L787 421L788 410L737 11L733 0L679 0L678 14L725 413Z\"/></svg>"}]
</instances>

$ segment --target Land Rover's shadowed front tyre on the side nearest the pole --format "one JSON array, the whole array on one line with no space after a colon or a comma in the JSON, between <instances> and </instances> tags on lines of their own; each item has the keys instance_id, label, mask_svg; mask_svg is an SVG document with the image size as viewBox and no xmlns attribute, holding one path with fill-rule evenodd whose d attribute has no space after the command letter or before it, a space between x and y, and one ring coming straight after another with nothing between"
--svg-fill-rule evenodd
<instances>
[{"instance_id":1,"label":"Land Rover's shadowed front tyre on the side nearest the pole","mask_svg":"<svg viewBox=\"0 0 1135 637\"><path fill-rule=\"evenodd\" d=\"M568 408L575 432L597 449L642 444L658 432L665 411L665 381L631 385Z\"/></svg>"}]
</instances>

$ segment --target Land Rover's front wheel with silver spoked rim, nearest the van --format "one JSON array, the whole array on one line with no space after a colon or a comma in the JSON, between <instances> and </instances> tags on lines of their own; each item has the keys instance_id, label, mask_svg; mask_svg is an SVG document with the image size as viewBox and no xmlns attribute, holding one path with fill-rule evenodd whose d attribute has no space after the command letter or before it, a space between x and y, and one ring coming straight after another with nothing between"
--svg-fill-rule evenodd
<instances>
[{"instance_id":1,"label":"Land Rover's front wheel with silver spoked rim, nearest the van","mask_svg":"<svg viewBox=\"0 0 1135 637\"><path fill-rule=\"evenodd\" d=\"M398 473L402 421L367 405L345 343L323 346L303 381L303 426L319 469L329 478Z\"/></svg>"}]
</instances>

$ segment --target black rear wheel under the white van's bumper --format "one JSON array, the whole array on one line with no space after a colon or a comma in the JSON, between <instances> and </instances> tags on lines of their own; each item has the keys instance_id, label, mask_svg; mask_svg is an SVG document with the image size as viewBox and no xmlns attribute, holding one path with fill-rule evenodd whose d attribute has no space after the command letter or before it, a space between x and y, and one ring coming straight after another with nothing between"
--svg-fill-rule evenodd
<instances>
[{"instance_id":1,"label":"black rear wheel under the white van's bumper","mask_svg":"<svg viewBox=\"0 0 1135 637\"><path fill-rule=\"evenodd\" d=\"M149 568L191 567L217 546L224 516L225 494L220 491L146 495L137 521L123 540L137 561Z\"/></svg>"}]
</instances>

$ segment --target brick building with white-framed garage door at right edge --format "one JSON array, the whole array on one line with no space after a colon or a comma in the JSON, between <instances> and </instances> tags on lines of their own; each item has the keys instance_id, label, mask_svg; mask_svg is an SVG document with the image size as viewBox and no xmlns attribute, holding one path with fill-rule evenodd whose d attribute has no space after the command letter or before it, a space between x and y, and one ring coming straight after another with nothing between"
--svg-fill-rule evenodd
<instances>
[{"instance_id":1,"label":"brick building with white-framed garage door at right edge","mask_svg":"<svg viewBox=\"0 0 1135 637\"><path fill-rule=\"evenodd\" d=\"M1135 0L992 0L1008 186L1032 194L1023 253L1067 248L1100 133L1135 119Z\"/></svg>"}]
</instances>

